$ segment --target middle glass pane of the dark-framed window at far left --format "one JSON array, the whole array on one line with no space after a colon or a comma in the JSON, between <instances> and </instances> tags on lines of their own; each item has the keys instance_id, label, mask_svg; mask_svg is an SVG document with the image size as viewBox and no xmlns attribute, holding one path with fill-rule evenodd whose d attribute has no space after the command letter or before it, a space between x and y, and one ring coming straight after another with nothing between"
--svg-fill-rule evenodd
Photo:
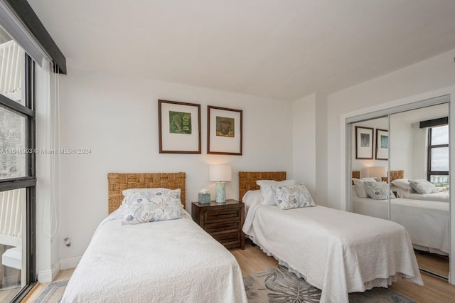
<instances>
[{"instance_id":1,"label":"middle glass pane of the dark-framed window at far left","mask_svg":"<svg viewBox=\"0 0 455 303\"><path fill-rule=\"evenodd\" d=\"M26 176L26 119L0 107L0 179Z\"/></svg>"}]
</instances>

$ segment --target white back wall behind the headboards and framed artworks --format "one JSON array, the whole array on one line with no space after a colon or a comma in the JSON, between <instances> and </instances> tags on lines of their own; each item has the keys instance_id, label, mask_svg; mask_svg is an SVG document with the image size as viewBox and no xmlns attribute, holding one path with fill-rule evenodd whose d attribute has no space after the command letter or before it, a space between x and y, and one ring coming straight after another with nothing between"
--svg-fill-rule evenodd
<instances>
[{"instance_id":1,"label":"white back wall behind the headboards and framed artworks","mask_svg":"<svg viewBox=\"0 0 455 303\"><path fill-rule=\"evenodd\" d=\"M202 154L159 154L158 99L201 105ZM200 188L212 193L208 164L231 164L227 198L238 198L238 171L284 170L292 177L292 107L288 102L122 77L68 70L60 78L63 148L91 154L63 154L62 220L58 239L65 266L77 263L98 223L107 216L107 173L186 172L186 209ZM243 110L243 155L206 154L207 105ZM63 238L70 237L66 248Z\"/></svg>"}]
</instances>

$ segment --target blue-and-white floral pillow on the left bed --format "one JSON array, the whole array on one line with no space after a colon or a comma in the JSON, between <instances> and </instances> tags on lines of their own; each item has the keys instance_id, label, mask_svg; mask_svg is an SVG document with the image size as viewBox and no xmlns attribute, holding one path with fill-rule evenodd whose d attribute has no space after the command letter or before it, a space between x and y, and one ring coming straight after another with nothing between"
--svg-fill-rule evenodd
<instances>
[{"instance_id":1,"label":"blue-and-white floral pillow on the left bed","mask_svg":"<svg viewBox=\"0 0 455 303\"><path fill-rule=\"evenodd\" d=\"M139 193L135 193L134 197L134 199L130 197L131 203L125 205L122 225L174 220L182 217L180 189L154 194L150 199Z\"/></svg>"}]
</instances>

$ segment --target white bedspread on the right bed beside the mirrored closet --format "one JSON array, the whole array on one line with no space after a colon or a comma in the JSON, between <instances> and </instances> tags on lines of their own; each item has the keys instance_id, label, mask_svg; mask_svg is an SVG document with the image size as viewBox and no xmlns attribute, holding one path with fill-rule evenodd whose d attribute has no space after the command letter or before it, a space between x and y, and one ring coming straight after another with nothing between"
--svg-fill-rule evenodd
<instances>
[{"instance_id":1,"label":"white bedspread on the right bed beside the mirrored closet","mask_svg":"<svg viewBox=\"0 0 455 303\"><path fill-rule=\"evenodd\" d=\"M321 289L321 302L348 302L348 292L378 281L387 287L398 273L423 285L410 237L397 223L323 206L281 211L257 204L243 231Z\"/></svg>"}]
</instances>

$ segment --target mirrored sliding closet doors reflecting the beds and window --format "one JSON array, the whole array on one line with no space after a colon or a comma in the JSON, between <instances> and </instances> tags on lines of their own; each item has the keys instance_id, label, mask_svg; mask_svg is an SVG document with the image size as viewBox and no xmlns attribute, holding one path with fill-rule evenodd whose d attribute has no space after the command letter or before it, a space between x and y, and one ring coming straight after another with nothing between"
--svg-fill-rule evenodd
<instances>
[{"instance_id":1,"label":"mirrored sliding closet doors reflecting the beds and window","mask_svg":"<svg viewBox=\"0 0 455 303\"><path fill-rule=\"evenodd\" d=\"M350 210L403 225L421 270L445 279L450 250L448 115L444 103L355 122L350 144ZM373 129L371 159L356 156L355 126ZM388 135L385 157L378 156L376 129ZM388 196L375 195L375 188L390 192L390 202Z\"/></svg>"}]
</instances>

